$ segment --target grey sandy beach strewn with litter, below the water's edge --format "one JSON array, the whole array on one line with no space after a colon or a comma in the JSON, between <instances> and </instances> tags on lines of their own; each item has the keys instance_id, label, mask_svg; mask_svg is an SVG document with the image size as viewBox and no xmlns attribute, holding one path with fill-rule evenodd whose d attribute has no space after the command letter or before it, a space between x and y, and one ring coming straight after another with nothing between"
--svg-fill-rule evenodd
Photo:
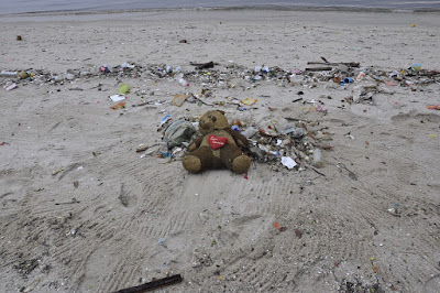
<instances>
[{"instance_id":1,"label":"grey sandy beach strewn with litter, below the water's edge","mask_svg":"<svg viewBox=\"0 0 440 293\"><path fill-rule=\"evenodd\" d=\"M183 282L160 292L440 291L440 112L427 108L440 104L439 13L0 23L0 70L32 74L0 77L1 292L116 292L175 274ZM331 69L306 70L317 66ZM111 109L122 83L125 107ZM198 98L174 106L183 94ZM211 109L241 130L302 127L297 149L321 149L323 166L304 151L299 170L273 155L246 176L188 174L185 150L156 155L166 115Z\"/></svg>"}]
</instances>

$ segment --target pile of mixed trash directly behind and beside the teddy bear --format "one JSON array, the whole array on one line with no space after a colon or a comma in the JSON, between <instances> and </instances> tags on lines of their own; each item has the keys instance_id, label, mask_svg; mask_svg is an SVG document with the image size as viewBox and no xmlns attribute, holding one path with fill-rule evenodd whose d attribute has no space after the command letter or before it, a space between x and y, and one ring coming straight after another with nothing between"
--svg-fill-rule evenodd
<instances>
[{"instance_id":1,"label":"pile of mixed trash directly behind and beside the teddy bear","mask_svg":"<svg viewBox=\"0 0 440 293\"><path fill-rule=\"evenodd\" d=\"M290 120L290 121L289 121ZM328 144L331 133L319 122L283 119L272 121L266 127L249 126L240 120L233 120L232 130L248 138L250 145L248 154L255 161L271 165L283 164L287 169L304 171L307 166L322 167L322 150L332 150ZM169 160L180 160L189 142L197 134L196 118L182 118L176 121L167 115L157 131L163 134L156 151L148 154ZM140 145L142 148L144 145ZM148 148L142 148L145 151ZM141 152L138 149L138 152Z\"/></svg>"}]
</instances>

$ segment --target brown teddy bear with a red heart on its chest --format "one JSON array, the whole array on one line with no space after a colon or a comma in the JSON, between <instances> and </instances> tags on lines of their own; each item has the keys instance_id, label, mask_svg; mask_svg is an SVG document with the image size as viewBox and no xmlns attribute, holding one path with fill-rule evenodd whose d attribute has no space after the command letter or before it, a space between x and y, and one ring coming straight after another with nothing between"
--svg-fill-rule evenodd
<instances>
[{"instance_id":1,"label":"brown teddy bear with a red heart on its chest","mask_svg":"<svg viewBox=\"0 0 440 293\"><path fill-rule=\"evenodd\" d=\"M206 112L199 121L199 131L202 135L189 144L189 153L183 159L187 171L199 173L227 167L234 173L248 172L251 159L242 149L248 148L249 141L230 128L223 111Z\"/></svg>"}]
</instances>

